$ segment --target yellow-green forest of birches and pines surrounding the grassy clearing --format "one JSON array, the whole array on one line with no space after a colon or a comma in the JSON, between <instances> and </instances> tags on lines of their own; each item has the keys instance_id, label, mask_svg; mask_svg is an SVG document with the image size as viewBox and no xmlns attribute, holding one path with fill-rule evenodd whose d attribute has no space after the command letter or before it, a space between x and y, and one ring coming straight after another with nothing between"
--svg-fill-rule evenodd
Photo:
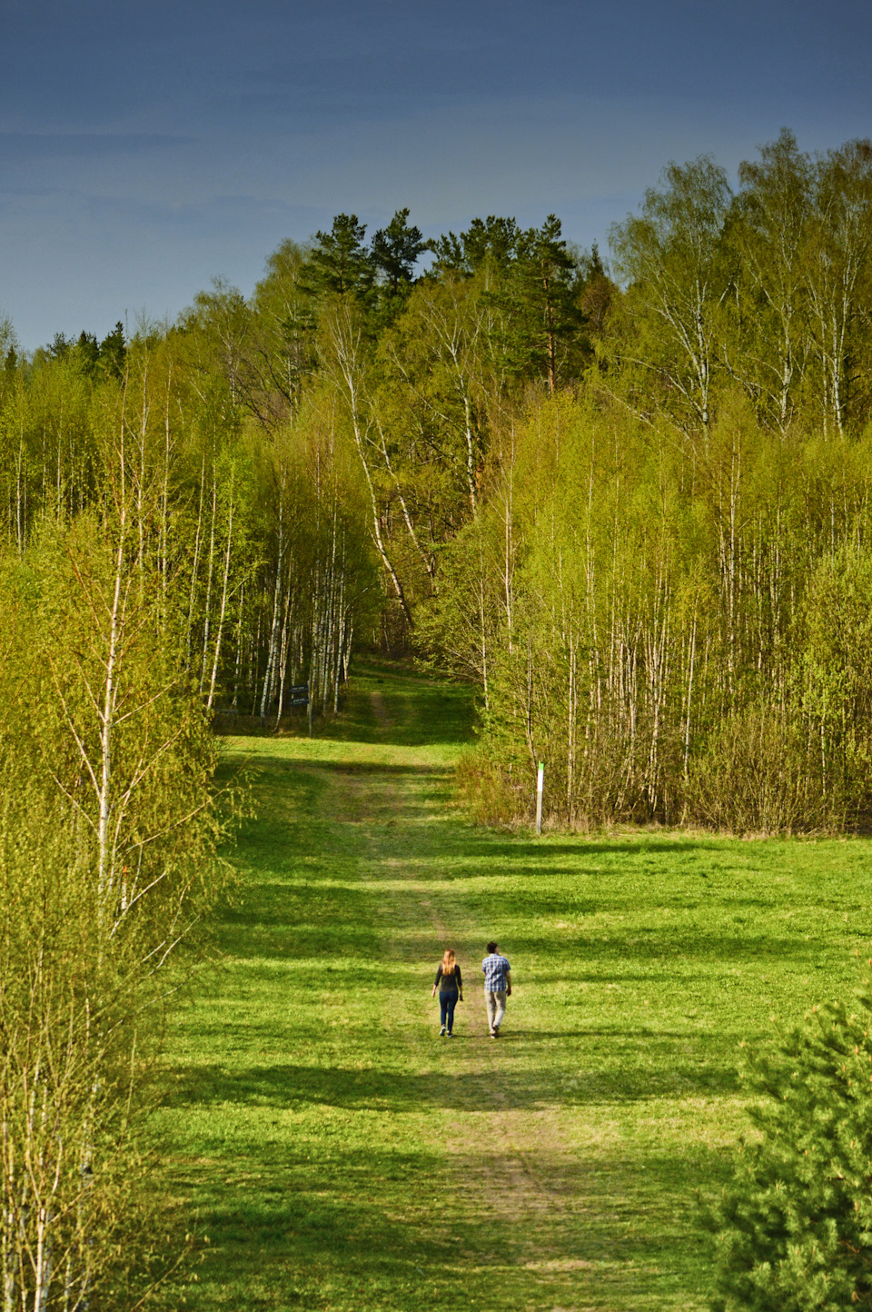
<instances>
[{"instance_id":1,"label":"yellow-green forest of birches and pines surrounding the grassy clearing","mask_svg":"<svg viewBox=\"0 0 872 1312\"><path fill-rule=\"evenodd\" d=\"M547 825L868 827L872 144L669 164L610 245L341 214L174 323L0 325L4 1309L126 1270L215 724L316 733L375 647L475 685L484 821L543 761Z\"/></svg>"}]
</instances>

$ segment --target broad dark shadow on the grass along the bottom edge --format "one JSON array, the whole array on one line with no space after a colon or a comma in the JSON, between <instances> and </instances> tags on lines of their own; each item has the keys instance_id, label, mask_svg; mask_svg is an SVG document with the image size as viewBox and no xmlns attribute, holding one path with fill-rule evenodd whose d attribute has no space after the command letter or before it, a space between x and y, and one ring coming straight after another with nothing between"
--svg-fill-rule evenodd
<instances>
[{"instance_id":1,"label":"broad dark shadow on the grass along the bottom edge","mask_svg":"<svg viewBox=\"0 0 872 1312\"><path fill-rule=\"evenodd\" d=\"M542 1152L545 1199L523 1189L483 1199L469 1182L502 1164L489 1144L454 1153L450 1170L437 1155L389 1145L333 1157L278 1141L258 1147L239 1178L226 1168L191 1172L210 1248L188 1305L226 1307L231 1273L245 1283L247 1305L307 1312L452 1312L471 1299L702 1305L708 1240L695 1190L700 1176L726 1177L724 1158L702 1147L652 1155L643 1169L620 1155ZM564 1274L549 1261L555 1253Z\"/></svg>"}]
</instances>

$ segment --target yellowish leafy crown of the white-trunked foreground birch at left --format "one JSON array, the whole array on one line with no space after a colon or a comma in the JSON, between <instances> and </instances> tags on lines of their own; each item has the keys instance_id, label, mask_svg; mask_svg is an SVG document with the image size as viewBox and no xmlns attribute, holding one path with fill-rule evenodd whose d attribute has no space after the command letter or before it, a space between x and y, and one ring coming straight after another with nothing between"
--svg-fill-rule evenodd
<instances>
[{"instance_id":1,"label":"yellowish leafy crown of the white-trunked foreground birch at left","mask_svg":"<svg viewBox=\"0 0 872 1312\"><path fill-rule=\"evenodd\" d=\"M147 960L214 896L216 744L181 669L178 617L142 559L119 571L119 548L135 550L122 526L83 516L28 554L37 594L17 617L28 652L16 665L18 695L39 710L16 757L59 794L55 815L77 830L104 929Z\"/></svg>"}]
</instances>

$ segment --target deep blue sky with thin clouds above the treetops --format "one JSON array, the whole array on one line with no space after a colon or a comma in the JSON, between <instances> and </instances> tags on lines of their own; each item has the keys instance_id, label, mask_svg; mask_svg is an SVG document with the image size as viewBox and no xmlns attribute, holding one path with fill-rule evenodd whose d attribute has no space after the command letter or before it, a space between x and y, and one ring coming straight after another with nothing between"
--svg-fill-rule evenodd
<instances>
[{"instance_id":1,"label":"deep blue sky with thin clouds above the treetops","mask_svg":"<svg viewBox=\"0 0 872 1312\"><path fill-rule=\"evenodd\" d=\"M174 318L341 211L604 249L670 159L872 135L871 67L869 0L0 0L0 311Z\"/></svg>"}]
</instances>

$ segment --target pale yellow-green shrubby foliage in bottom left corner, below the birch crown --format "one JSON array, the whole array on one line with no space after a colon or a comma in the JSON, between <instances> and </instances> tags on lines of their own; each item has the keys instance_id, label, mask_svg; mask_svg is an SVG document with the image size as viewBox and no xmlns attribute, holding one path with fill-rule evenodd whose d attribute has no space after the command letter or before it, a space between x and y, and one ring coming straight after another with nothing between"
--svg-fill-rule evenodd
<instances>
[{"instance_id":1,"label":"pale yellow-green shrubby foliage in bottom left corner, below the birch crown","mask_svg":"<svg viewBox=\"0 0 872 1312\"><path fill-rule=\"evenodd\" d=\"M26 777L0 794L0 1162L9 1305L135 1300L147 997L101 933L92 871ZM165 1254L167 1258L168 1254ZM172 1260L172 1256L170 1256ZM125 1288L126 1287L126 1288Z\"/></svg>"}]
</instances>

